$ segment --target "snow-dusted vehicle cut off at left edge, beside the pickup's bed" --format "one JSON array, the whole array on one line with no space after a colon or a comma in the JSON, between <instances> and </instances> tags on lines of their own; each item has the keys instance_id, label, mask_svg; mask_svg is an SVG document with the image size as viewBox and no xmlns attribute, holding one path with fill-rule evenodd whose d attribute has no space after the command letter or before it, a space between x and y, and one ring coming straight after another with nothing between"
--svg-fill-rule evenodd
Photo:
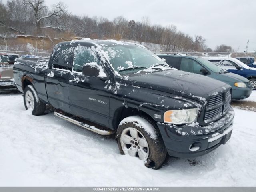
<instances>
[{"instance_id":1,"label":"snow-dusted vehicle cut off at left edge, beside the pickup's bed","mask_svg":"<svg viewBox=\"0 0 256 192\"><path fill-rule=\"evenodd\" d=\"M18 54L0 53L0 86L14 86L13 64Z\"/></svg>"}]
</instances>

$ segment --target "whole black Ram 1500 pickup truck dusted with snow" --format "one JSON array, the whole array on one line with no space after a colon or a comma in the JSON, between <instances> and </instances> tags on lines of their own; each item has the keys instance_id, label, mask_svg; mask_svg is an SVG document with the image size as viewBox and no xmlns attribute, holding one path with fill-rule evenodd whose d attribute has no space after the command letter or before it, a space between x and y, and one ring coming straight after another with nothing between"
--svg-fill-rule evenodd
<instances>
[{"instance_id":1,"label":"whole black Ram 1500 pickup truck dusted with snow","mask_svg":"<svg viewBox=\"0 0 256 192\"><path fill-rule=\"evenodd\" d=\"M206 154L232 133L231 87L168 66L143 46L114 40L58 44L49 62L16 59L26 109L93 132L116 133L121 154L157 169L166 158Z\"/></svg>"}]
</instances>

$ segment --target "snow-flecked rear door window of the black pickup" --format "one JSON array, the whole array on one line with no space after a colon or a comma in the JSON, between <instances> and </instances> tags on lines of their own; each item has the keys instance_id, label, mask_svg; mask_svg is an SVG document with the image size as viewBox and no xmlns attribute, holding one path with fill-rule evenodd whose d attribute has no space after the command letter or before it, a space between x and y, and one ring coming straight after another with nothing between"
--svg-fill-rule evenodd
<instances>
[{"instance_id":1,"label":"snow-flecked rear door window of the black pickup","mask_svg":"<svg viewBox=\"0 0 256 192\"><path fill-rule=\"evenodd\" d=\"M61 46L56 50L53 59L53 69L67 70L68 62L72 54L72 47L69 45Z\"/></svg>"}]
</instances>

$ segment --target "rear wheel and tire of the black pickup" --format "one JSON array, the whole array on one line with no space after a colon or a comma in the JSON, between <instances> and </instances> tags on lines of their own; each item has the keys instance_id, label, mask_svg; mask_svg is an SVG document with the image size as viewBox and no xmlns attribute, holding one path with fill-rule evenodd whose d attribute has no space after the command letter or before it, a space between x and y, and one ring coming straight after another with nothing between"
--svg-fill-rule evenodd
<instances>
[{"instance_id":1,"label":"rear wheel and tire of the black pickup","mask_svg":"<svg viewBox=\"0 0 256 192\"><path fill-rule=\"evenodd\" d=\"M45 112L46 104L38 98L37 92L32 85L26 86L23 97L26 110L32 109L32 115L42 115Z\"/></svg>"}]
</instances>

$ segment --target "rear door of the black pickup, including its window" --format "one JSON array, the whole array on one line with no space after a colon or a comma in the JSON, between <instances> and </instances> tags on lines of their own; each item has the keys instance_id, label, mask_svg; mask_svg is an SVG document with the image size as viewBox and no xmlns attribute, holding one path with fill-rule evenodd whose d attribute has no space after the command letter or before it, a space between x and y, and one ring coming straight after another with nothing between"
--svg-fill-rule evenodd
<instances>
[{"instance_id":1,"label":"rear door of the black pickup, including its window","mask_svg":"<svg viewBox=\"0 0 256 192\"><path fill-rule=\"evenodd\" d=\"M56 49L49 61L46 74L46 91L49 103L56 109L70 112L68 100L68 64L72 60L72 47L62 45Z\"/></svg>"}]
</instances>

